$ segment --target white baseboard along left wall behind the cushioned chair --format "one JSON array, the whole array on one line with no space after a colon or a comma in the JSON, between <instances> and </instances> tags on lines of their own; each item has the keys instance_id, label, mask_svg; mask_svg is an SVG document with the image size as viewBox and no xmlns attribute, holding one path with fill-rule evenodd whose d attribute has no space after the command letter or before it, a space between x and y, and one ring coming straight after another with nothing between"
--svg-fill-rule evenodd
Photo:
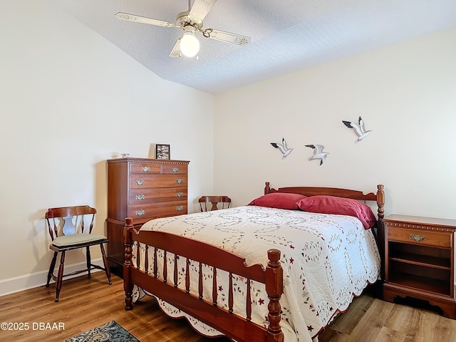
<instances>
[{"instance_id":1,"label":"white baseboard along left wall behind the cushioned chair","mask_svg":"<svg viewBox=\"0 0 456 342\"><path fill-rule=\"evenodd\" d=\"M103 259L92 260L92 264L103 267ZM71 273L78 271L79 269L84 269L86 267L86 262L81 262L78 264L65 265L65 273ZM56 265L58 269L58 264ZM100 271L99 269L94 269L92 272ZM55 274L55 273L54 273ZM80 274L75 274L73 276L68 276L65 279L75 278L76 276L81 276ZM14 294L15 292L24 291L28 289L33 289L34 287L46 285L48 281L48 270L35 272L31 274L26 274L24 276L14 276L13 278L0 280L0 296L5 296L6 294ZM53 280L51 279L51 282Z\"/></svg>"}]
</instances>

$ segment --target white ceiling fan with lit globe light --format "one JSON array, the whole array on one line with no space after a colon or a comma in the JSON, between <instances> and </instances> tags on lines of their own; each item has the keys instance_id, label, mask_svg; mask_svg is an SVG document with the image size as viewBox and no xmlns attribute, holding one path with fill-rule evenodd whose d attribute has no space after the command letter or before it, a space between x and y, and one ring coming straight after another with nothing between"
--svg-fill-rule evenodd
<instances>
[{"instance_id":1,"label":"white ceiling fan with lit globe light","mask_svg":"<svg viewBox=\"0 0 456 342\"><path fill-rule=\"evenodd\" d=\"M201 32L202 36L216 41L224 41L240 46L250 43L250 37L247 36L220 31L214 28L202 28L203 19L207 16L210 9L212 9L212 6L214 6L216 2L217 0L195 0L193 6L191 6L191 0L188 0L188 11L177 14L176 24L172 24L170 21L152 19L145 16L136 16L134 14L122 12L115 14L115 16L117 16L118 19L125 21L133 21L163 27L182 28L184 33L179 39L177 39L177 42L170 53L170 57L180 57L182 55L187 57L197 56L199 51L199 41L195 36L197 31Z\"/></svg>"}]
</instances>

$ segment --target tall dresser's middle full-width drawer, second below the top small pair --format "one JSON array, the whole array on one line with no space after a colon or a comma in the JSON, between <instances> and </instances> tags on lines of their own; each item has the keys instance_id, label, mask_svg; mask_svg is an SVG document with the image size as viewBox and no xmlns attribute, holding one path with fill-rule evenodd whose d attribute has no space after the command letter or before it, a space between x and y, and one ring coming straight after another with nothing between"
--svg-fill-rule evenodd
<instances>
[{"instance_id":1,"label":"tall dresser's middle full-width drawer, second below the top small pair","mask_svg":"<svg viewBox=\"0 0 456 342\"><path fill-rule=\"evenodd\" d=\"M187 201L187 187L163 187L152 189L133 189L129 195L130 204L150 202Z\"/></svg>"}]
</instances>

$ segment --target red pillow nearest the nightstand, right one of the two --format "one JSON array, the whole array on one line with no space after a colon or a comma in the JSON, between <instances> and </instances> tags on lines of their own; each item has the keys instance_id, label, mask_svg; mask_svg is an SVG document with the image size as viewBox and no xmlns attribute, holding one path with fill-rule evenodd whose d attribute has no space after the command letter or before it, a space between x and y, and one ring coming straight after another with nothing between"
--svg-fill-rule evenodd
<instances>
[{"instance_id":1,"label":"red pillow nearest the nightstand, right one of the two","mask_svg":"<svg viewBox=\"0 0 456 342\"><path fill-rule=\"evenodd\" d=\"M306 212L358 217L366 229L373 227L377 222L371 207L356 199L321 195L306 197L296 204L298 204L299 209Z\"/></svg>"}]
</instances>

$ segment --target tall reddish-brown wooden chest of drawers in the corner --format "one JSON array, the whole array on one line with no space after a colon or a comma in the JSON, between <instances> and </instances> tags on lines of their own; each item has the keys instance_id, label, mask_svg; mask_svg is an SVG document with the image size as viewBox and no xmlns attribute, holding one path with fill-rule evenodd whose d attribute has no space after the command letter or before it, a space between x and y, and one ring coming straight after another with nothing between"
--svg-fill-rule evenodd
<instances>
[{"instance_id":1,"label":"tall reddish-brown wooden chest of drawers in the corner","mask_svg":"<svg viewBox=\"0 0 456 342\"><path fill-rule=\"evenodd\" d=\"M108 261L122 275L125 217L135 227L150 219L187 214L188 161L144 158L108 160Z\"/></svg>"}]
</instances>

